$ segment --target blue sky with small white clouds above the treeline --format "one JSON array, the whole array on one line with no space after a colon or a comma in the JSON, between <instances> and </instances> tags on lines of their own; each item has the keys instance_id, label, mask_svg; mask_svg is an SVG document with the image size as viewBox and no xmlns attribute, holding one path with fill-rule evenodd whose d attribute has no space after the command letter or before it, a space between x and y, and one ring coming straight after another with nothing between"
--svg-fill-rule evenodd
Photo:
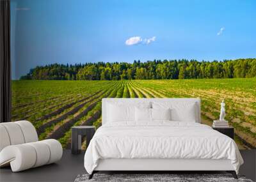
<instances>
[{"instance_id":1,"label":"blue sky with small white clouds above the treeline","mask_svg":"<svg viewBox=\"0 0 256 182\"><path fill-rule=\"evenodd\" d=\"M256 57L256 1L11 0L12 78L50 63Z\"/></svg>"}]
</instances>

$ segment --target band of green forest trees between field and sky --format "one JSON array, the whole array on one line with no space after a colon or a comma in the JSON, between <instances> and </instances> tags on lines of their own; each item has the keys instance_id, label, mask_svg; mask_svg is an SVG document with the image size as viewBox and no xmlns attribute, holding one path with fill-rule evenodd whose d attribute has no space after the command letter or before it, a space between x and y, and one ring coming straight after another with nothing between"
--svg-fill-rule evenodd
<instances>
[{"instance_id":1,"label":"band of green forest trees between field and sky","mask_svg":"<svg viewBox=\"0 0 256 182\"><path fill-rule=\"evenodd\" d=\"M133 63L49 64L20 80L222 79L256 77L256 59L154 60Z\"/></svg>"}]
</instances>

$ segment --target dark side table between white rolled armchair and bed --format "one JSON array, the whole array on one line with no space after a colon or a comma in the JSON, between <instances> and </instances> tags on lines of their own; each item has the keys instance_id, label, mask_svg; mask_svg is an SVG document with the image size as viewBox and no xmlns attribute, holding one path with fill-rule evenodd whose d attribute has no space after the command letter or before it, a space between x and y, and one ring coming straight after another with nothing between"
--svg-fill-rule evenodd
<instances>
[{"instance_id":1,"label":"dark side table between white rolled armchair and bed","mask_svg":"<svg viewBox=\"0 0 256 182\"><path fill-rule=\"evenodd\" d=\"M82 137L86 135L86 148L88 147L90 140L95 133L94 126L73 126L72 136L71 136L71 153L79 154L81 153L81 142Z\"/></svg>"}]
</instances>

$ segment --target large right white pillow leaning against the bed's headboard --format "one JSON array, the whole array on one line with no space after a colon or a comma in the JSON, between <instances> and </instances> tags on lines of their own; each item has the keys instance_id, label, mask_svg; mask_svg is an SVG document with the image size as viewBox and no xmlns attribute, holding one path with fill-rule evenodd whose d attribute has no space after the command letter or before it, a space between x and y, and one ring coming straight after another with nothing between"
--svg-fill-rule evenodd
<instances>
[{"instance_id":1,"label":"large right white pillow leaning against the bed's headboard","mask_svg":"<svg viewBox=\"0 0 256 182\"><path fill-rule=\"evenodd\" d=\"M186 102L154 102L154 109L171 109L172 121L196 122L196 105L195 103Z\"/></svg>"}]
</instances>

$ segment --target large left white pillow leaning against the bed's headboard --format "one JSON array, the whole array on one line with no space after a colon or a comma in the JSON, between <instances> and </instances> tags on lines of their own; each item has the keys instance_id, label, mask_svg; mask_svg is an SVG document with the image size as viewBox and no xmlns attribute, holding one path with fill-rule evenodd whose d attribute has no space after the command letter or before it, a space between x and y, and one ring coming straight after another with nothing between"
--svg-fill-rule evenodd
<instances>
[{"instance_id":1,"label":"large left white pillow leaning against the bed's headboard","mask_svg":"<svg viewBox=\"0 0 256 182\"><path fill-rule=\"evenodd\" d=\"M107 107L107 122L135 121L135 107L150 108L150 102L111 102Z\"/></svg>"}]
</instances>

